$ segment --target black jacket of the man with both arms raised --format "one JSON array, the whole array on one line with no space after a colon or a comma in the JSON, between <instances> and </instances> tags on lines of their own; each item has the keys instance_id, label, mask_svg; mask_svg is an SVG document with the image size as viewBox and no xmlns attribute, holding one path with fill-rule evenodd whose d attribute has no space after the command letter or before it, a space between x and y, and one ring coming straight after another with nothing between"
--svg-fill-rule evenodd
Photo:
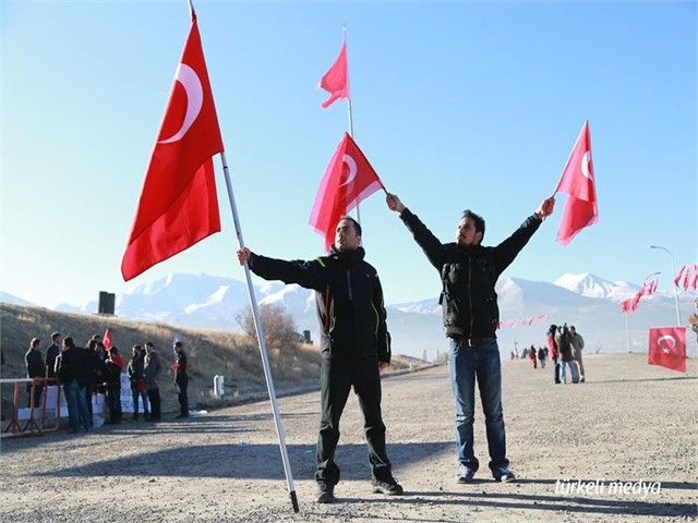
<instances>
[{"instance_id":1,"label":"black jacket of the man with both arms raised","mask_svg":"<svg viewBox=\"0 0 698 523\"><path fill-rule=\"evenodd\" d=\"M440 303L447 337L494 337L500 324L500 308L494 285L542 220L529 216L514 234L496 247L478 245L465 248L441 241L409 209L400 219L410 230L442 279Z\"/></svg>"}]
</instances>

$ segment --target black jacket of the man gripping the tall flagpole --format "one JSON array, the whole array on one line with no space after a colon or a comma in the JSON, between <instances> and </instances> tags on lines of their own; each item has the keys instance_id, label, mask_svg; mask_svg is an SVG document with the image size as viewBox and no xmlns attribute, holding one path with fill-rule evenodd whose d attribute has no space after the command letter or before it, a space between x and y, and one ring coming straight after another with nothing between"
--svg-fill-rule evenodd
<instances>
[{"instance_id":1,"label":"black jacket of the man gripping the tall flagpole","mask_svg":"<svg viewBox=\"0 0 698 523\"><path fill-rule=\"evenodd\" d=\"M313 260L273 259L253 254L251 270L265 280L298 283L315 291L324 358L375 357L390 362L390 335L386 325L378 275L363 260L364 251L339 252Z\"/></svg>"}]
</instances>

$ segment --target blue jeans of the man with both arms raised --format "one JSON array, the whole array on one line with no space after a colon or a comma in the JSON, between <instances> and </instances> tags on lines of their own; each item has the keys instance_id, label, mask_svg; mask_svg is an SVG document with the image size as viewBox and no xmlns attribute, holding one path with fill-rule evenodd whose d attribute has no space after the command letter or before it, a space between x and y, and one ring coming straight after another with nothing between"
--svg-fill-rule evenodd
<instances>
[{"instance_id":1,"label":"blue jeans of the man with both arms raised","mask_svg":"<svg viewBox=\"0 0 698 523\"><path fill-rule=\"evenodd\" d=\"M502 414L502 363L496 339L484 345L468 346L459 340L449 342L450 385L456 400L456 445L458 462L477 471L472 426L476 414L476 378L484 412L490 450L490 469L495 477L509 466Z\"/></svg>"}]
</instances>

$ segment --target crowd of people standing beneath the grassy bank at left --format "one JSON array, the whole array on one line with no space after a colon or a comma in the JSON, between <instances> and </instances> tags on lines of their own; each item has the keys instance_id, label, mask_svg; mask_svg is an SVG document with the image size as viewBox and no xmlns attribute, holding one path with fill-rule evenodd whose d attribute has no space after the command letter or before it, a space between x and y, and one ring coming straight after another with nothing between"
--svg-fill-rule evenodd
<instances>
[{"instance_id":1,"label":"crowd of people standing beneath the grassy bank at left","mask_svg":"<svg viewBox=\"0 0 698 523\"><path fill-rule=\"evenodd\" d=\"M81 429L89 431L94 428L93 397L105 396L108 412L106 424L119 424L123 421L121 408L121 375L125 373L131 382L133 396L133 416L131 421L141 419L149 423L161 421L161 399L159 381L163 364L155 344L145 342L145 351L139 344L133 345L128 364L119 349L111 344L105 346L99 335L94 335L84 348L77 346L73 337L62 337L60 332L51 335L51 345L46 355L41 354L41 340L32 338L29 349L24 356L27 378L27 406L39 409L45 393L46 379L56 379L62 387L71 433ZM174 372L174 385L178 390L180 412L177 418L189 417L188 368L189 363L181 341L173 343L176 362L170 368ZM141 417L140 405L143 405Z\"/></svg>"}]
</instances>

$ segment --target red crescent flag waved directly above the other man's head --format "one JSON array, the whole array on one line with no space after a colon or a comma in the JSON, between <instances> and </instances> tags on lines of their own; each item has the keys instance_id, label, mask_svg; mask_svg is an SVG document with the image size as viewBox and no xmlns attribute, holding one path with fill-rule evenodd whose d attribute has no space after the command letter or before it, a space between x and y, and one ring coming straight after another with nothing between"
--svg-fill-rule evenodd
<instances>
[{"instance_id":1,"label":"red crescent flag waved directly above the other man's head","mask_svg":"<svg viewBox=\"0 0 698 523\"><path fill-rule=\"evenodd\" d=\"M310 216L310 224L325 238L326 251L334 242L339 219L378 188L385 190L383 182L359 146L345 133L320 182Z\"/></svg>"}]
</instances>

